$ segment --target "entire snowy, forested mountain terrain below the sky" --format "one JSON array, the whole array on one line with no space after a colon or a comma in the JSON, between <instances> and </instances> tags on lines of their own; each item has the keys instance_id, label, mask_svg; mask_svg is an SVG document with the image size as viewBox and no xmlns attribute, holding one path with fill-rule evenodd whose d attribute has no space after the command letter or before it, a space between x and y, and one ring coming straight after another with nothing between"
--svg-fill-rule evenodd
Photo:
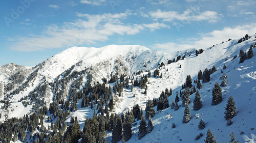
<instances>
[{"instance_id":1,"label":"entire snowy, forested mountain terrain below the sky","mask_svg":"<svg viewBox=\"0 0 256 143\"><path fill-rule=\"evenodd\" d=\"M255 142L255 39L252 35L242 41L230 39L204 49L170 53L139 45L72 47L34 67L1 66L0 138L13 142L121 142L122 136L113 139L118 135L110 122L117 113L115 121L120 116L126 123L126 117L133 112L131 136L126 142L204 142L207 129L218 142L229 142L232 132L240 142ZM254 56L241 62L241 50L247 54L250 48ZM200 70L205 76L206 68L210 71L209 81L198 76ZM188 75L191 86L186 84ZM221 87L222 101L212 105L212 90L223 78L226 85ZM197 88L199 83L201 87ZM184 123L187 107L182 104L187 87L190 118ZM193 108L195 90L201 95L199 110ZM8 123L4 122L5 91L10 103ZM177 95L175 110L172 100L176 101ZM165 108L159 109L161 96ZM229 96L236 102L237 110L227 125L224 107ZM139 127L142 116L146 116L148 100L154 103L156 111L152 117L154 128L140 137ZM204 129L198 129L201 119ZM86 127L93 128L94 124L97 131L88 134Z\"/></svg>"}]
</instances>

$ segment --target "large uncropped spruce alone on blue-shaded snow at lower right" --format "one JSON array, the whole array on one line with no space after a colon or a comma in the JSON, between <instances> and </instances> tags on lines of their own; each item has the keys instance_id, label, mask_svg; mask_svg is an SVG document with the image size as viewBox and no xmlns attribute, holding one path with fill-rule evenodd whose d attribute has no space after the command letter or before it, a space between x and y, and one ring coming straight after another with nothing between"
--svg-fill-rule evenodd
<instances>
[{"instance_id":1,"label":"large uncropped spruce alone on blue-shaded snow at lower right","mask_svg":"<svg viewBox=\"0 0 256 143\"><path fill-rule=\"evenodd\" d=\"M227 100L227 105L225 107L226 111L224 112L225 113L224 118L226 120L232 119L236 115L237 108L234 105L236 105L236 102L233 101L232 96L229 96Z\"/></svg>"}]
</instances>

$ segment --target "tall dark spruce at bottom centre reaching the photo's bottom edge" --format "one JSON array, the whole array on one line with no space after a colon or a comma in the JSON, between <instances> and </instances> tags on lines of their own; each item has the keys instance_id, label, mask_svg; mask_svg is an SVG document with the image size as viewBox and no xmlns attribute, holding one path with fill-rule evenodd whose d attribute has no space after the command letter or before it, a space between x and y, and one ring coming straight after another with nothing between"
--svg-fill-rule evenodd
<instances>
[{"instance_id":1,"label":"tall dark spruce at bottom centre reaching the photo's bottom edge","mask_svg":"<svg viewBox=\"0 0 256 143\"><path fill-rule=\"evenodd\" d=\"M122 119L119 115L115 115L113 132L112 132L112 142L117 143L119 140L122 139L122 135L123 135Z\"/></svg>"}]
</instances>

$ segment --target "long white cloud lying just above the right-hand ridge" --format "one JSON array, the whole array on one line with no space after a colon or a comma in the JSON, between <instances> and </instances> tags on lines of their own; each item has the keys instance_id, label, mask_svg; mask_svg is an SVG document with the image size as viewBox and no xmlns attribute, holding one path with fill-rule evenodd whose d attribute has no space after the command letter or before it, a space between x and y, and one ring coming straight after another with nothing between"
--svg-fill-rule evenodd
<instances>
[{"instance_id":1,"label":"long white cloud lying just above the right-hand ridge","mask_svg":"<svg viewBox=\"0 0 256 143\"><path fill-rule=\"evenodd\" d=\"M246 34L252 35L256 32L256 23L237 26L234 28L225 27L223 30L216 30L210 33L201 34L201 39L196 41L187 41L187 44L178 44L174 42L157 43L153 45L156 49L162 49L163 51L170 52L172 50L185 50L189 48L208 48L214 44L219 44L222 41L231 39L240 39ZM182 42L184 43L184 42Z\"/></svg>"}]
</instances>

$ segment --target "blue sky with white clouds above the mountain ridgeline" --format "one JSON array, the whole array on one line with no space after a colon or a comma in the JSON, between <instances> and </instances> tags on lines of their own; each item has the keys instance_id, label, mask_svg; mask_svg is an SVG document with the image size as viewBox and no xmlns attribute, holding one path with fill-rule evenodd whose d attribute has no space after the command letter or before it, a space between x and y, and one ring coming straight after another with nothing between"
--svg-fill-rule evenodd
<instances>
[{"instance_id":1,"label":"blue sky with white clouds above the mountain ridgeline","mask_svg":"<svg viewBox=\"0 0 256 143\"><path fill-rule=\"evenodd\" d=\"M20 0L0 5L0 65L35 66L73 46L206 48L256 33L256 1Z\"/></svg>"}]
</instances>

